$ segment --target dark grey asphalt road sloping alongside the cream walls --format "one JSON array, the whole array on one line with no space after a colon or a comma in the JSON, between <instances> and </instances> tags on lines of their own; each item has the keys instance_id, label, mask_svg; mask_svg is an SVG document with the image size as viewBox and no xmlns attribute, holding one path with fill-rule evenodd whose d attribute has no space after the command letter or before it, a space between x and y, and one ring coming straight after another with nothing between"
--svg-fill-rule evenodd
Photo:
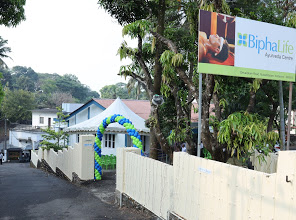
<instances>
[{"instance_id":1,"label":"dark grey asphalt road sloping alongside the cream walls","mask_svg":"<svg viewBox=\"0 0 296 220\"><path fill-rule=\"evenodd\" d=\"M104 182L81 187L28 163L4 163L0 165L0 219L149 219L113 204L114 183L107 175Z\"/></svg>"}]
</instances>

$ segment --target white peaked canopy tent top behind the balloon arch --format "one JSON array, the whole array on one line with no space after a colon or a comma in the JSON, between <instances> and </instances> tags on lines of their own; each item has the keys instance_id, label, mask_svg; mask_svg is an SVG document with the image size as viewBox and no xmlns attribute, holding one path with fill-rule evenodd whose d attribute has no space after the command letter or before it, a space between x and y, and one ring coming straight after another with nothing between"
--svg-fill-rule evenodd
<instances>
[{"instance_id":1,"label":"white peaked canopy tent top behind the balloon arch","mask_svg":"<svg viewBox=\"0 0 296 220\"><path fill-rule=\"evenodd\" d=\"M79 124L65 128L65 132L96 132L103 120L114 114L120 114L129 119L140 134L149 134L150 130L145 126L145 120L130 110L120 98L117 98L107 109L97 116L90 118ZM106 128L106 132L126 133L125 128L118 124L112 123Z\"/></svg>"}]
</instances>

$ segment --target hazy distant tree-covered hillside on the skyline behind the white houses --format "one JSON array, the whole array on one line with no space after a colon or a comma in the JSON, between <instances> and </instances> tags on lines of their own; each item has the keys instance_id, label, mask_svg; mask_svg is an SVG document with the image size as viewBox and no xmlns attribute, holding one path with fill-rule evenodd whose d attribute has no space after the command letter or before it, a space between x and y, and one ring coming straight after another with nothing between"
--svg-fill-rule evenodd
<instances>
[{"instance_id":1,"label":"hazy distant tree-covered hillside on the skyline behind the white houses","mask_svg":"<svg viewBox=\"0 0 296 220\"><path fill-rule=\"evenodd\" d=\"M15 66L12 69L0 67L2 86L10 90L32 92L38 108L55 108L62 102L86 102L100 95L88 86L81 84L72 74L58 75L36 73L30 67Z\"/></svg>"}]
</instances>

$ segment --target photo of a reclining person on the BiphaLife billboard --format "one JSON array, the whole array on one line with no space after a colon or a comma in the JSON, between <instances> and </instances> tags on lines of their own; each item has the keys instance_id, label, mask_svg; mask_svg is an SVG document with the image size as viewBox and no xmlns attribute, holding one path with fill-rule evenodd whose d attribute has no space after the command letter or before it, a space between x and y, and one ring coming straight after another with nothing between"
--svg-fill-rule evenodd
<instances>
[{"instance_id":1,"label":"photo of a reclining person on the BiphaLife billboard","mask_svg":"<svg viewBox=\"0 0 296 220\"><path fill-rule=\"evenodd\" d=\"M199 62L234 66L234 44L235 17L201 10Z\"/></svg>"}]
</instances>

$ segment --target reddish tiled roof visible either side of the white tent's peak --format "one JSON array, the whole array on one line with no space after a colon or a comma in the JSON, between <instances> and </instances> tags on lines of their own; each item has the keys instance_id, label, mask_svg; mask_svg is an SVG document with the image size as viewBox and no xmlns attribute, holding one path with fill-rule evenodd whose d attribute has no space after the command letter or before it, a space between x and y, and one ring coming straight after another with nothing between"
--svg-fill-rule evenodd
<instances>
[{"instance_id":1,"label":"reddish tiled roof visible either side of the white tent's peak","mask_svg":"<svg viewBox=\"0 0 296 220\"><path fill-rule=\"evenodd\" d=\"M104 106L105 108L108 108L115 99L93 99L100 105ZM145 120L149 118L150 115L150 102L148 100L128 100L128 99L122 99L121 100L124 104L127 105L127 107L130 108L134 113L139 115L141 118L144 118Z\"/></svg>"}]
</instances>

